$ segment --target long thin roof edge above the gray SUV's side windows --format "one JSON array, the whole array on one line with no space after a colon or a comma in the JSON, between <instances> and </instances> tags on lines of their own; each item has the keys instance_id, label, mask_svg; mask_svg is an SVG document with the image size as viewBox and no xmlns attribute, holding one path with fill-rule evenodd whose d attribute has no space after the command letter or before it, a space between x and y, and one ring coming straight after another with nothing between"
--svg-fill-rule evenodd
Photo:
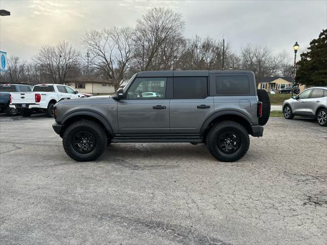
<instances>
[{"instance_id":1,"label":"long thin roof edge above the gray SUV's side windows","mask_svg":"<svg viewBox=\"0 0 327 245\"><path fill-rule=\"evenodd\" d=\"M183 76L209 76L212 73L253 73L251 71L145 71L137 73L137 77L183 77Z\"/></svg>"}]
</instances>

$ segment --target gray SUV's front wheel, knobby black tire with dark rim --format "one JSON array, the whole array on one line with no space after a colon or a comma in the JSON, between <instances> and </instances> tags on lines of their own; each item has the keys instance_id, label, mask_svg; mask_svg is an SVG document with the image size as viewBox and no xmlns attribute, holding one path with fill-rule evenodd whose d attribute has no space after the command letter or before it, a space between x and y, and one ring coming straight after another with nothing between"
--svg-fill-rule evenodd
<instances>
[{"instance_id":1,"label":"gray SUV's front wheel, knobby black tire with dark rim","mask_svg":"<svg viewBox=\"0 0 327 245\"><path fill-rule=\"evenodd\" d=\"M69 157L78 162L96 160L108 142L106 132L98 123L81 120L68 126L62 137L62 144Z\"/></svg>"}]
</instances>

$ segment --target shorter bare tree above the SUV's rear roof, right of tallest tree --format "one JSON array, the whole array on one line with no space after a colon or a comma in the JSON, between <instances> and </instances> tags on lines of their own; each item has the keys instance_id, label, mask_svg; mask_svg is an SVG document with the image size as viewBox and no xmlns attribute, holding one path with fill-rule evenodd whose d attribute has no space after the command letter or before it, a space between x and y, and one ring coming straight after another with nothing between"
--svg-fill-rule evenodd
<instances>
[{"instance_id":1,"label":"shorter bare tree above the SUV's rear roof, right of tallest tree","mask_svg":"<svg viewBox=\"0 0 327 245\"><path fill-rule=\"evenodd\" d=\"M223 43L206 37L195 36L188 40L186 49L180 59L182 70L221 70ZM229 48L225 48L225 57Z\"/></svg>"}]
</instances>

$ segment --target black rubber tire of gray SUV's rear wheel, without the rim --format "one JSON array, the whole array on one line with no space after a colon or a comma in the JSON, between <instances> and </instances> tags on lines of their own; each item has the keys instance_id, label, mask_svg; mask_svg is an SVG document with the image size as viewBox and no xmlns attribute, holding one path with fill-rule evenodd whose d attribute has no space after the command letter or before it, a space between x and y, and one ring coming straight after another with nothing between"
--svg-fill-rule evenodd
<instances>
[{"instance_id":1,"label":"black rubber tire of gray SUV's rear wheel, without the rim","mask_svg":"<svg viewBox=\"0 0 327 245\"><path fill-rule=\"evenodd\" d=\"M240 147L234 153L226 154L218 147L219 136L226 132L236 132L240 137ZM250 138L247 130L239 123L234 121L223 121L216 123L209 129L206 136L206 145L211 154L222 162L236 162L244 157L250 146Z\"/></svg>"}]
</instances>

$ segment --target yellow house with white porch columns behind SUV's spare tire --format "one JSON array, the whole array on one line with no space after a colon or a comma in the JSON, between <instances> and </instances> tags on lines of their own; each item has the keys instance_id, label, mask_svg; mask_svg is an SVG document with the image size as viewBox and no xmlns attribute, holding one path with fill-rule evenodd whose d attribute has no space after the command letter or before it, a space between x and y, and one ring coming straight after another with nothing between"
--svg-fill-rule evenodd
<instances>
[{"instance_id":1,"label":"yellow house with white porch columns behind SUV's spare tire","mask_svg":"<svg viewBox=\"0 0 327 245\"><path fill-rule=\"evenodd\" d=\"M258 89L266 90L267 92L278 93L284 87L292 86L292 77L260 77L258 83ZM300 85L300 92L305 90L305 85Z\"/></svg>"}]
</instances>

